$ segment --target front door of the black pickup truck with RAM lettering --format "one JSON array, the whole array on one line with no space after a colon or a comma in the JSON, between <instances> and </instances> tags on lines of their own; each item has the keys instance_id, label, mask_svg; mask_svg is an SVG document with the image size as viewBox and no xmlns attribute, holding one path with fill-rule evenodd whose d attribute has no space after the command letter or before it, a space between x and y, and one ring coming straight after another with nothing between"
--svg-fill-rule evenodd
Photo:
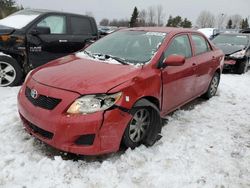
<instances>
[{"instance_id":1,"label":"front door of the black pickup truck with RAM lettering","mask_svg":"<svg viewBox=\"0 0 250 188\"><path fill-rule=\"evenodd\" d=\"M71 35L68 33L66 15L46 15L39 19L31 30L36 27L48 27L50 34L27 34L28 57L33 68L71 53L68 43Z\"/></svg>"}]
</instances>

